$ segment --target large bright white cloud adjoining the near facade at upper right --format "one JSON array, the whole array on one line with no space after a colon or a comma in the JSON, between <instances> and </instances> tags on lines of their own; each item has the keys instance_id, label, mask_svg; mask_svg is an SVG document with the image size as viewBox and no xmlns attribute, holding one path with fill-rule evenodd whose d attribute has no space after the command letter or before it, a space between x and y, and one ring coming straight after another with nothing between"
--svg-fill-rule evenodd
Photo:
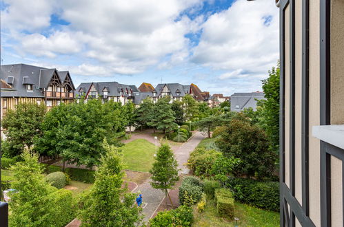
<instances>
[{"instance_id":1,"label":"large bright white cloud adjoining the near facade at upper right","mask_svg":"<svg viewBox=\"0 0 344 227\"><path fill-rule=\"evenodd\" d=\"M266 17L272 17L270 25L264 23ZM238 69L267 72L276 65L279 10L274 1L236 1L228 10L210 16L202 28L201 41L194 48L194 63L234 74ZM226 75L222 78L232 76Z\"/></svg>"}]
</instances>

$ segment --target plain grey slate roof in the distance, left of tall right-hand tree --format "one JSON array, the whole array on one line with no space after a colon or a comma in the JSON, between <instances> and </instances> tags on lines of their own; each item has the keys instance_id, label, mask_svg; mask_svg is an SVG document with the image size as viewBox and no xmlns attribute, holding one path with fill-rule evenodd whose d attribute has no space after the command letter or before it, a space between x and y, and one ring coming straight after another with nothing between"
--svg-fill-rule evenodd
<instances>
[{"instance_id":1,"label":"plain grey slate roof in the distance, left of tall right-hand tree","mask_svg":"<svg viewBox=\"0 0 344 227\"><path fill-rule=\"evenodd\" d=\"M230 97L230 110L242 111L249 107L256 110L256 100L261 99L265 99L263 92L234 93Z\"/></svg>"}]
</instances>

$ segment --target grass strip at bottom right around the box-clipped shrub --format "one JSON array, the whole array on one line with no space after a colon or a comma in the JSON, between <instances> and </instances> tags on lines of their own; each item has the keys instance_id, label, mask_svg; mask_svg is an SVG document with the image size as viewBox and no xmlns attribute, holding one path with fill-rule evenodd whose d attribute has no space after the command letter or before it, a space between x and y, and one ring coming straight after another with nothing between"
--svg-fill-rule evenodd
<instances>
[{"instance_id":1,"label":"grass strip at bottom right around the box-clipped shrub","mask_svg":"<svg viewBox=\"0 0 344 227\"><path fill-rule=\"evenodd\" d=\"M279 226L279 213L261 210L246 204L235 202L234 217L239 217L238 226ZM214 200L207 200L203 213L194 208L194 223L192 226L235 226L235 221L217 214Z\"/></svg>"}]
</instances>

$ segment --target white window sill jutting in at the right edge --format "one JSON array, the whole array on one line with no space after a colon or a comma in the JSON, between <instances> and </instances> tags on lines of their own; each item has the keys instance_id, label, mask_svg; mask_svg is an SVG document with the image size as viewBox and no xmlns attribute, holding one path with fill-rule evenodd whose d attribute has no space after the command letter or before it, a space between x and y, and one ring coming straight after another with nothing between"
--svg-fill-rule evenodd
<instances>
[{"instance_id":1,"label":"white window sill jutting in at the right edge","mask_svg":"<svg viewBox=\"0 0 344 227\"><path fill-rule=\"evenodd\" d=\"M344 149L344 125L313 126L312 135L319 140Z\"/></svg>"}]
</instances>

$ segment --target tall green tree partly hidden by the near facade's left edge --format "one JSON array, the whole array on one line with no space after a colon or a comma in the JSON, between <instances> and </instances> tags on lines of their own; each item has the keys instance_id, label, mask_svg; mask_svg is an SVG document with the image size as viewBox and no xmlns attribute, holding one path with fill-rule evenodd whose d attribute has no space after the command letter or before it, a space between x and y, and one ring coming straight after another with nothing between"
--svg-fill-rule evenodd
<instances>
[{"instance_id":1,"label":"tall green tree partly hidden by the near facade's left edge","mask_svg":"<svg viewBox=\"0 0 344 227\"><path fill-rule=\"evenodd\" d=\"M260 107L260 125L265 129L271 141L271 149L276 153L279 153L279 72L278 62L277 67L269 71L269 77L262 80L266 100L257 103Z\"/></svg>"}]
</instances>

